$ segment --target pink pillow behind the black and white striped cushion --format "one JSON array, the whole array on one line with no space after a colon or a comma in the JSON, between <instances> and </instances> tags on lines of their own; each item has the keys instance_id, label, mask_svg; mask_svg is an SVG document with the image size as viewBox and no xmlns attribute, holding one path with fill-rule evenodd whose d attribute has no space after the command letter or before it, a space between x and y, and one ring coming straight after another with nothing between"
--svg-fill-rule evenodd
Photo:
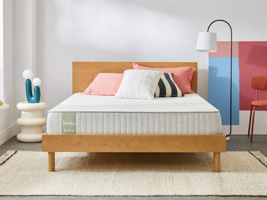
<instances>
[{"instance_id":1,"label":"pink pillow behind the black and white striped cushion","mask_svg":"<svg viewBox=\"0 0 267 200\"><path fill-rule=\"evenodd\" d=\"M177 68L150 68L133 62L133 68L173 73L173 80L178 85L182 93L194 93L192 91L193 75L195 71L194 67L184 66Z\"/></svg>"}]
</instances>

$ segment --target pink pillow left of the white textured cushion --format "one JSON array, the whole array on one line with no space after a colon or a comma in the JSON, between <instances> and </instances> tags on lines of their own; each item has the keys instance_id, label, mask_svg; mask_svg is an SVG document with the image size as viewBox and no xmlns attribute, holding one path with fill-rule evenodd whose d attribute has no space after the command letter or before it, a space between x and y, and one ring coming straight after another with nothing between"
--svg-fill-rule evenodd
<instances>
[{"instance_id":1,"label":"pink pillow left of the white textured cushion","mask_svg":"<svg viewBox=\"0 0 267 200\"><path fill-rule=\"evenodd\" d=\"M123 73L98 73L81 94L114 96L121 84Z\"/></svg>"}]
</instances>

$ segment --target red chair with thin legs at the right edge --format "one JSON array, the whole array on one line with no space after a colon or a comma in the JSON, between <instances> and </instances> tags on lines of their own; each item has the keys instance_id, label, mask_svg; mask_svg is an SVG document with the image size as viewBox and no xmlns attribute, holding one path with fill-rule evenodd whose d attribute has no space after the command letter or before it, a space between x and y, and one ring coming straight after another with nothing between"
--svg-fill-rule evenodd
<instances>
[{"instance_id":1,"label":"red chair with thin legs at the right edge","mask_svg":"<svg viewBox=\"0 0 267 200\"><path fill-rule=\"evenodd\" d=\"M258 100L257 99L258 90L267 90L267 76L254 76L254 77L251 77L250 81L249 81L249 84L250 84L251 87L256 89L256 100L253 100L251 102L249 125L248 125L248 132L247 132L247 136L249 136L250 123L251 123L251 114L252 114L252 109L253 109L252 126L251 126L251 137L250 137L250 141L252 142L254 117L255 117L255 108L256 108L256 106L267 106L267 100Z\"/></svg>"}]
</instances>

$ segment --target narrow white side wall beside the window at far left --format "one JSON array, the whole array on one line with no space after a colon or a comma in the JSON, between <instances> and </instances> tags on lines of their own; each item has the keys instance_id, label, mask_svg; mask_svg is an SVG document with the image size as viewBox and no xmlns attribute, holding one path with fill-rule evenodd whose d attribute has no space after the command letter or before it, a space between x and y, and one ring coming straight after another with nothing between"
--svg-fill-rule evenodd
<instances>
[{"instance_id":1,"label":"narrow white side wall beside the window at far left","mask_svg":"<svg viewBox=\"0 0 267 200\"><path fill-rule=\"evenodd\" d=\"M3 2L3 1L2 1ZM0 110L0 145L14 135L13 131L13 0L3 2L4 102L10 107Z\"/></svg>"}]
</instances>

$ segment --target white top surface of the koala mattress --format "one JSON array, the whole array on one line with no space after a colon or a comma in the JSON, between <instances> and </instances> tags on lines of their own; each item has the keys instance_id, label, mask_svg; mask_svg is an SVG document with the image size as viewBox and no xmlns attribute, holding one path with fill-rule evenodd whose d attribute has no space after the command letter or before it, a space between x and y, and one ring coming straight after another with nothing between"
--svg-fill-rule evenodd
<instances>
[{"instance_id":1,"label":"white top surface of the koala mattress","mask_svg":"<svg viewBox=\"0 0 267 200\"><path fill-rule=\"evenodd\" d=\"M196 93L183 97L118 99L74 93L48 112L219 112Z\"/></svg>"}]
</instances>

